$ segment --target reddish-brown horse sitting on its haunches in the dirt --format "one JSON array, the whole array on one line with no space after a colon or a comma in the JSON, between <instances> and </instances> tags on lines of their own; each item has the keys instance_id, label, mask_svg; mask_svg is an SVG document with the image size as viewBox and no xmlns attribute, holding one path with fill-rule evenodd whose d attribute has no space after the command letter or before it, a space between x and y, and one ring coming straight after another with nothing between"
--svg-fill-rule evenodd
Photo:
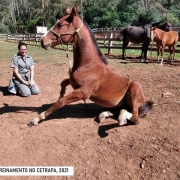
<instances>
[{"instance_id":1,"label":"reddish-brown horse sitting on its haunches in the dirt","mask_svg":"<svg viewBox=\"0 0 180 180\"><path fill-rule=\"evenodd\" d=\"M70 77L61 83L61 93L57 102L30 121L29 125L37 125L39 121L66 104L86 99L108 108L126 106L131 113L125 109L121 110L118 124L127 124L127 119L138 124L139 117L149 112L152 102L146 101L139 82L120 76L110 69L91 29L77 14L76 6L72 10L67 9L66 15L42 36L44 49L66 43L73 43L74 57ZM64 96L69 84L74 91ZM103 112L99 119L111 115L108 111Z\"/></svg>"}]
</instances>

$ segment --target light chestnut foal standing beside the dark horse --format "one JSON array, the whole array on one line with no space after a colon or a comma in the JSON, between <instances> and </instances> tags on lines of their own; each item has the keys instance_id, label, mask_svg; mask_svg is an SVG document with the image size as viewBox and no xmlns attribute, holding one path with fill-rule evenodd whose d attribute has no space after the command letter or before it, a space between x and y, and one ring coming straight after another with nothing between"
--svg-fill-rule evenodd
<instances>
[{"instance_id":1,"label":"light chestnut foal standing beside the dark horse","mask_svg":"<svg viewBox=\"0 0 180 180\"><path fill-rule=\"evenodd\" d=\"M165 46L168 46L169 48L169 58L168 61L170 61L170 63L172 62L172 60L174 60L174 53L176 50L176 45L178 43L178 32L177 31L169 31L169 32L165 32L162 31L156 27L151 27L151 31L152 31L152 39L153 41L156 42L156 46L157 46L157 64L159 62L159 56L161 54L161 65L163 64L163 54L164 54L164 48Z\"/></svg>"}]
</instances>

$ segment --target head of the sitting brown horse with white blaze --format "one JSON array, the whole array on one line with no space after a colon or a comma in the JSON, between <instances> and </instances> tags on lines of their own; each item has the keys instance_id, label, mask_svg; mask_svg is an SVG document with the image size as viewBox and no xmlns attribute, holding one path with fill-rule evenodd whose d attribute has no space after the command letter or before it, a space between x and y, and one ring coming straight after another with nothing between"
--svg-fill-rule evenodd
<instances>
[{"instance_id":1,"label":"head of the sitting brown horse with white blaze","mask_svg":"<svg viewBox=\"0 0 180 180\"><path fill-rule=\"evenodd\" d=\"M58 44L67 44L74 41L75 34L79 34L83 22L77 14L77 7L72 10L67 9L63 16L55 25L41 37L41 46L50 49Z\"/></svg>"}]
</instances>

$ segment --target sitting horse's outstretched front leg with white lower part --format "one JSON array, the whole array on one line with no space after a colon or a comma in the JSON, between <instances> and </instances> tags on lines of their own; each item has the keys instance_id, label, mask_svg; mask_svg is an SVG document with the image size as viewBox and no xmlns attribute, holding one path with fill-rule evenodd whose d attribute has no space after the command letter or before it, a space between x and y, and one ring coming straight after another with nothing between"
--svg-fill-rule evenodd
<instances>
[{"instance_id":1,"label":"sitting horse's outstretched front leg with white lower part","mask_svg":"<svg viewBox=\"0 0 180 180\"><path fill-rule=\"evenodd\" d=\"M39 121L46 119L52 112L62 108L63 106L76 102L79 100L85 100L89 98L89 93L83 91L83 89L76 89L72 93L59 98L47 111L42 112L38 117L34 118L28 123L29 126L38 125Z\"/></svg>"}]
</instances>

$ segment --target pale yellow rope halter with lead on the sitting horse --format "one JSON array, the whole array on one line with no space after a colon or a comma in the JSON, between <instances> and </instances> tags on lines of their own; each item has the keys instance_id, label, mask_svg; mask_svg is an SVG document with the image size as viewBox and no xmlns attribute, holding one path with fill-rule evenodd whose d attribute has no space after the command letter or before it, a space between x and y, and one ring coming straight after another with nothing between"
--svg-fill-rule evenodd
<instances>
[{"instance_id":1,"label":"pale yellow rope halter with lead on the sitting horse","mask_svg":"<svg viewBox=\"0 0 180 180\"><path fill-rule=\"evenodd\" d=\"M52 29L49 30L49 31L51 31L55 36L57 36L57 37L59 38L59 40L60 40L60 42L61 42L61 46L62 46L63 50L66 52L66 57L67 57L68 62L69 62L69 73L71 72L72 65L71 65L71 62L70 62L70 59L69 59L69 54L67 53L68 46L67 46L67 48L64 47L63 42L62 42L62 39L61 39L61 35L70 34L70 35L73 36L74 34L72 34L72 33L75 33L75 34L77 33L77 35L79 35L79 38L82 39L83 36L82 36L82 34L80 33L80 29L81 29L82 26L83 26L83 21L82 21L80 27L77 28L77 29L75 29L74 31L68 31L68 32L66 32L66 33L61 33L61 34L58 34L57 32L53 31Z\"/></svg>"}]
</instances>

